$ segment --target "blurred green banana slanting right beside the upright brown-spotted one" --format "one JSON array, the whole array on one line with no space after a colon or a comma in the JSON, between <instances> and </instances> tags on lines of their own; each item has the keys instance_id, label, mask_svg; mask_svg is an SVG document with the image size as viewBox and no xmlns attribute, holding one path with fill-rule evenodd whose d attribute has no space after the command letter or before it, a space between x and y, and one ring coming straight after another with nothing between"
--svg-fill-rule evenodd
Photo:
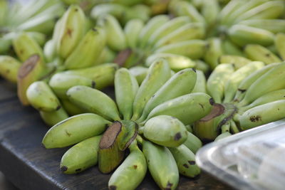
<instances>
[{"instance_id":1,"label":"blurred green banana slanting right beside the upright brown-spotted one","mask_svg":"<svg viewBox=\"0 0 285 190\"><path fill-rule=\"evenodd\" d=\"M105 33L100 28L92 28L64 62L66 69L88 68L94 65L105 46Z\"/></svg>"}]
</instances>

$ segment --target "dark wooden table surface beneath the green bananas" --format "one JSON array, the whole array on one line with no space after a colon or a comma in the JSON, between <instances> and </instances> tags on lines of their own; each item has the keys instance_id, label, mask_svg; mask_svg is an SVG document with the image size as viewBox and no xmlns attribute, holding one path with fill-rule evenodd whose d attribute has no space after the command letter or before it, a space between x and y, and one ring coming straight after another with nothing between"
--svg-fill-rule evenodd
<instances>
[{"instance_id":1,"label":"dark wooden table surface beneath the green bananas","mask_svg":"<svg viewBox=\"0 0 285 190\"><path fill-rule=\"evenodd\" d=\"M0 80L0 171L19 189L108 189L110 175L97 167L66 175L59 169L66 149L44 149L41 139L48 130L31 107L21 106L13 86ZM138 189L158 189L147 173ZM180 177L177 189L232 189L202 173L196 179Z\"/></svg>"}]
</instances>

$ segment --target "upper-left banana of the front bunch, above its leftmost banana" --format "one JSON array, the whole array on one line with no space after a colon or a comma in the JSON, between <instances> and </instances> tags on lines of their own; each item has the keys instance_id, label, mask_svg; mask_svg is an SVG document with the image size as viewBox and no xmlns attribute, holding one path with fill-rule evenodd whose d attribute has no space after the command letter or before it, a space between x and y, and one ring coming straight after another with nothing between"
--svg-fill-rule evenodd
<instances>
[{"instance_id":1,"label":"upper-left banana of the front bunch, above its leftmost banana","mask_svg":"<svg viewBox=\"0 0 285 190\"><path fill-rule=\"evenodd\" d=\"M78 85L70 88L66 95L71 102L88 112L102 115L107 120L120 120L115 102L100 90Z\"/></svg>"}]
</instances>

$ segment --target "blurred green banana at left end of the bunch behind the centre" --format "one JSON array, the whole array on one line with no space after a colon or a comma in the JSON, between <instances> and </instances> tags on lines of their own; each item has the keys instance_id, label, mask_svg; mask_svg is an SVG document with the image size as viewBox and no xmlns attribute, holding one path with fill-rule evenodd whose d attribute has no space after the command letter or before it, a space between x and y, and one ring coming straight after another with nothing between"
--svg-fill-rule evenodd
<instances>
[{"instance_id":1,"label":"blurred green banana at left end of the bunch behind the centre","mask_svg":"<svg viewBox=\"0 0 285 190\"><path fill-rule=\"evenodd\" d=\"M112 15L103 15L98 18L97 25L104 28L106 44L114 51L123 51L127 48L125 33L120 23ZM100 40L98 36L98 40ZM99 48L100 49L100 48Z\"/></svg>"}]
</instances>

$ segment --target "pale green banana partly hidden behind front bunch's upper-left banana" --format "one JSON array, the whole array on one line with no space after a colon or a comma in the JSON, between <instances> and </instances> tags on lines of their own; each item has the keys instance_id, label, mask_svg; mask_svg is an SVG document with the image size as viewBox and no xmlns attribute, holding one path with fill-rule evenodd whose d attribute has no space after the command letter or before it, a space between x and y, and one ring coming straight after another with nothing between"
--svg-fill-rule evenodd
<instances>
[{"instance_id":1,"label":"pale green banana partly hidden behind front bunch's upper-left banana","mask_svg":"<svg viewBox=\"0 0 285 190\"><path fill-rule=\"evenodd\" d=\"M49 80L48 85L51 86L53 92L60 98L68 99L66 92L69 88L76 85L85 85L95 88L95 81L79 75L68 75L64 73L56 73Z\"/></svg>"}]
</instances>

